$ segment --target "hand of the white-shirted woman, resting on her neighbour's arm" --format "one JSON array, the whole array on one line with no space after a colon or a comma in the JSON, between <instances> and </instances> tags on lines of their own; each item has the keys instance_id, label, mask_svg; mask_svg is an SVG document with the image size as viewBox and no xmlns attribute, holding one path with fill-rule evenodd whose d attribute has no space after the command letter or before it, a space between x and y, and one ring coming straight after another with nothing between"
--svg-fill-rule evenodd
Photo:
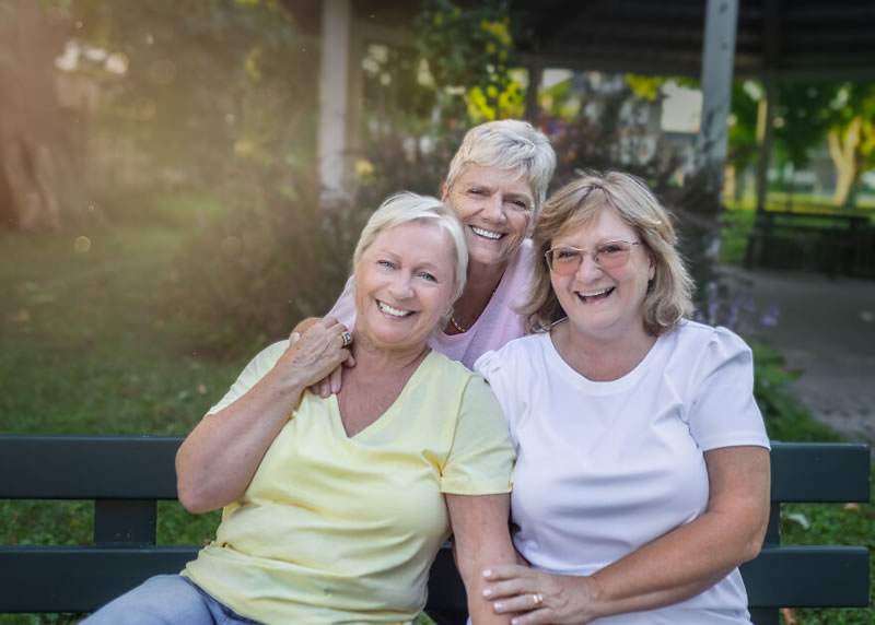
<instances>
[{"instance_id":1,"label":"hand of the white-shirted woman, resting on her neighbour's arm","mask_svg":"<svg viewBox=\"0 0 875 625\"><path fill-rule=\"evenodd\" d=\"M588 577L552 575L515 564L483 571L483 597L499 614L513 614L513 625L588 623L596 614L595 582Z\"/></svg>"}]
</instances>

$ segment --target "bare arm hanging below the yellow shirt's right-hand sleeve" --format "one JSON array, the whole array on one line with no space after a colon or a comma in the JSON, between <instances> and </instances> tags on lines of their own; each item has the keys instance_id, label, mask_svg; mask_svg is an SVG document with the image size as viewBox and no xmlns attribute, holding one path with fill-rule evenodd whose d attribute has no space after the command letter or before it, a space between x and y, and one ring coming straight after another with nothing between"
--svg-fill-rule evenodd
<instances>
[{"instance_id":1,"label":"bare arm hanging below the yellow shirt's right-hand sleeve","mask_svg":"<svg viewBox=\"0 0 875 625\"><path fill-rule=\"evenodd\" d=\"M486 579L481 571L486 564L516 559L508 530L511 496L446 494L445 497L453 528L453 553L465 582L471 621L477 625L506 623L508 617L495 614L483 597Z\"/></svg>"}]
</instances>

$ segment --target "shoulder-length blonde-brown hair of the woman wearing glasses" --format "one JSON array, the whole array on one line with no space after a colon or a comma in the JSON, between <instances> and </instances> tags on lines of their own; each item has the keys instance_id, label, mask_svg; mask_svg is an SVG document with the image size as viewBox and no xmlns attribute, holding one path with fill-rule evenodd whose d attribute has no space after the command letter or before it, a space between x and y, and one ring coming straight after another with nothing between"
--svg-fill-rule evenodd
<instances>
[{"instance_id":1,"label":"shoulder-length blonde-brown hair of the woman wearing glasses","mask_svg":"<svg viewBox=\"0 0 875 625\"><path fill-rule=\"evenodd\" d=\"M535 222L535 272L528 302L521 314L528 330L542 332L564 317L550 284L544 255L561 232L592 223L610 207L641 239L653 258L655 274L644 298L644 330L658 337L692 314L693 283L675 247L670 215L639 178L621 172L586 173L559 189Z\"/></svg>"}]
</instances>

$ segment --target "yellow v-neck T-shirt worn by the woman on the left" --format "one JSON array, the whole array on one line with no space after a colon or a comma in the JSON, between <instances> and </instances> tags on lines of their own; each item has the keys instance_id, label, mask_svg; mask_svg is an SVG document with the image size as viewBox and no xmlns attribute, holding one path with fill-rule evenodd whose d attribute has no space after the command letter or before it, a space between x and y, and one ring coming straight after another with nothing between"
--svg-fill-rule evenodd
<instances>
[{"instance_id":1,"label":"yellow v-neck T-shirt worn by the woman on the left","mask_svg":"<svg viewBox=\"0 0 875 625\"><path fill-rule=\"evenodd\" d=\"M256 356L211 412L252 388L287 345ZM487 384L436 352L352 437L335 396L306 392L184 575L265 623L409 623L450 534L443 493L506 493L513 460Z\"/></svg>"}]
</instances>

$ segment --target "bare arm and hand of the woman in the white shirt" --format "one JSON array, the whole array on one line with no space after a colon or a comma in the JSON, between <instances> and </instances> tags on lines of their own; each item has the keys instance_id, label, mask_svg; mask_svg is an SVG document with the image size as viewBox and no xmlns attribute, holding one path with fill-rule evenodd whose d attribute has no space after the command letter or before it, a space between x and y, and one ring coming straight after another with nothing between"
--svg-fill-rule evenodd
<instances>
[{"instance_id":1,"label":"bare arm and hand of the woman in the white shirt","mask_svg":"<svg viewBox=\"0 0 875 625\"><path fill-rule=\"evenodd\" d=\"M588 577L493 566L487 591L498 599L495 611L529 610L514 621L527 625L652 610L699 594L756 557L769 519L768 450L723 447L704 459L710 496L701 516ZM544 597L539 610L534 593Z\"/></svg>"}]
</instances>

